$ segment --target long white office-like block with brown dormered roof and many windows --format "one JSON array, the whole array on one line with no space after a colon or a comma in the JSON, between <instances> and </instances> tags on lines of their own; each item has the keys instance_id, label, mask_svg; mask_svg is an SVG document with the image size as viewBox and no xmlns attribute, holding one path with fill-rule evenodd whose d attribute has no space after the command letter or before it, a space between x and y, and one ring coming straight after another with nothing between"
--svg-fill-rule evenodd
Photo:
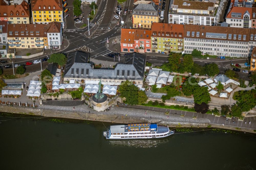
<instances>
[{"instance_id":1,"label":"long white office-like block with brown dormered roof and many windows","mask_svg":"<svg viewBox=\"0 0 256 170\"><path fill-rule=\"evenodd\" d=\"M185 25L184 52L248 57L256 43L256 30L245 28Z\"/></svg>"}]
</instances>

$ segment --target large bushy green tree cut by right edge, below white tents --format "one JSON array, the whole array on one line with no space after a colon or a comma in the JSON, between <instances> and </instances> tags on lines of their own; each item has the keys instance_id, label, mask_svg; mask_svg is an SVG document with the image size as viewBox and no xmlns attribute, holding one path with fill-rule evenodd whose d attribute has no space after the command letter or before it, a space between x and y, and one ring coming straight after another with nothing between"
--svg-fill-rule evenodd
<instances>
[{"instance_id":1,"label":"large bushy green tree cut by right edge, below white tents","mask_svg":"<svg viewBox=\"0 0 256 170\"><path fill-rule=\"evenodd\" d=\"M242 112L249 111L256 105L255 94L248 90L241 90L238 92L237 105L241 108Z\"/></svg>"}]
</instances>

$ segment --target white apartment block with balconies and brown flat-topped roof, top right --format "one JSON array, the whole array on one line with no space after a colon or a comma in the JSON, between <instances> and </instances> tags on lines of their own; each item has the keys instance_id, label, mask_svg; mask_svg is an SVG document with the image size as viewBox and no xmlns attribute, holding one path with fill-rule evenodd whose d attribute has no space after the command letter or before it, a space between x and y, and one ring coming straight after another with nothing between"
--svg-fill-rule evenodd
<instances>
[{"instance_id":1,"label":"white apartment block with balconies and brown flat-topped roof, top right","mask_svg":"<svg viewBox=\"0 0 256 170\"><path fill-rule=\"evenodd\" d=\"M171 0L168 23L214 25L215 22L219 22L224 4L225 0Z\"/></svg>"}]
</instances>

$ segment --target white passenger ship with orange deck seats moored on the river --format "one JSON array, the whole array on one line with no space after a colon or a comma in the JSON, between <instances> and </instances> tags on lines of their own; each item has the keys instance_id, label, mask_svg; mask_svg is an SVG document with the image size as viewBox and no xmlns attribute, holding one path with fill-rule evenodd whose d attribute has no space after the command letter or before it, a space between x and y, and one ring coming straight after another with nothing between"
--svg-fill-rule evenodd
<instances>
[{"instance_id":1,"label":"white passenger ship with orange deck seats moored on the river","mask_svg":"<svg viewBox=\"0 0 256 170\"><path fill-rule=\"evenodd\" d=\"M106 139L155 139L170 136L174 131L167 126L157 124L141 123L128 125L112 125L110 129L103 132Z\"/></svg>"}]
</instances>

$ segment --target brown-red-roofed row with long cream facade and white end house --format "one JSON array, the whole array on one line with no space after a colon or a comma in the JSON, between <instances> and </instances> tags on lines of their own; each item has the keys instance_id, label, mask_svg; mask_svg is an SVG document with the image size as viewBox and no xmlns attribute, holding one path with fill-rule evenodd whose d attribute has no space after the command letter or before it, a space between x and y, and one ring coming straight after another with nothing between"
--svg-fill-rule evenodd
<instances>
[{"instance_id":1,"label":"brown-red-roofed row with long cream facade and white end house","mask_svg":"<svg viewBox=\"0 0 256 170\"><path fill-rule=\"evenodd\" d=\"M7 21L0 21L0 53L5 57L8 48L60 49L61 43L62 27L60 22L7 25ZM1 49L1 46L5 49Z\"/></svg>"}]
</instances>

